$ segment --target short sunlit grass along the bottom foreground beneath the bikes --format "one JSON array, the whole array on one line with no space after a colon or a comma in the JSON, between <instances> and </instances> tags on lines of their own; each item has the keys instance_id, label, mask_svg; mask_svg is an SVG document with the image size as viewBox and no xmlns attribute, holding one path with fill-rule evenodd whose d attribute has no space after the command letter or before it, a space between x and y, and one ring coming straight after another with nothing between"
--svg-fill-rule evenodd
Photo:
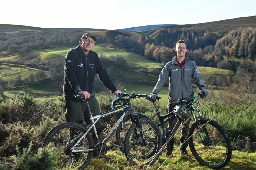
<instances>
[{"instance_id":1,"label":"short sunlit grass along the bottom foreground beneath the bikes","mask_svg":"<svg viewBox=\"0 0 256 170\"><path fill-rule=\"evenodd\" d=\"M179 155L179 148L175 148L174 157L166 159L165 150L162 156L149 167L143 167L143 169L209 169L206 166L202 166L194 157L188 158L186 156ZM191 154L190 150L188 150ZM119 149L112 149L107 152L107 156L110 156L110 161L103 161L103 159L92 159L87 169L136 169L128 164L124 154ZM233 151L230 162L223 169L254 169L256 167L256 153L247 153ZM137 168L139 169L139 168Z\"/></svg>"}]
</instances>

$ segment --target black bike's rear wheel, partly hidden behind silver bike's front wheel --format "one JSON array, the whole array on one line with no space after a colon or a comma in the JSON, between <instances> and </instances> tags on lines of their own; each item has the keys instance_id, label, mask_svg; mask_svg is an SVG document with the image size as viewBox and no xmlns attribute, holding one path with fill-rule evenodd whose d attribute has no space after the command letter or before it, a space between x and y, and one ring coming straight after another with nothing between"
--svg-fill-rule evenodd
<instances>
[{"instance_id":1,"label":"black bike's rear wheel, partly hidden behind silver bike's front wheel","mask_svg":"<svg viewBox=\"0 0 256 170\"><path fill-rule=\"evenodd\" d=\"M139 119L150 119L149 117L147 117L146 115L142 114L142 113L135 113L139 116ZM131 125L131 120L130 120L130 116L127 116L126 119L123 121L123 125L121 124L116 131L116 139L117 139L117 144L120 147L120 150L124 153L123 150L123 141L125 138L125 134L127 132L127 129L130 127Z\"/></svg>"}]
</instances>

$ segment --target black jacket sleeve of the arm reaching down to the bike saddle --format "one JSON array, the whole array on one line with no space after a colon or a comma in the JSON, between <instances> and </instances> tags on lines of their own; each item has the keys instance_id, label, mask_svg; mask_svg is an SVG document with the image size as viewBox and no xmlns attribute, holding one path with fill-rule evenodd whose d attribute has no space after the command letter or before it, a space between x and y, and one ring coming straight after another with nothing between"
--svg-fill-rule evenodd
<instances>
[{"instance_id":1,"label":"black jacket sleeve of the arm reaching down to the bike saddle","mask_svg":"<svg viewBox=\"0 0 256 170\"><path fill-rule=\"evenodd\" d=\"M71 88L76 91L80 86L76 76L76 57L72 52L67 52L65 57L65 77L68 80Z\"/></svg>"}]
</instances>

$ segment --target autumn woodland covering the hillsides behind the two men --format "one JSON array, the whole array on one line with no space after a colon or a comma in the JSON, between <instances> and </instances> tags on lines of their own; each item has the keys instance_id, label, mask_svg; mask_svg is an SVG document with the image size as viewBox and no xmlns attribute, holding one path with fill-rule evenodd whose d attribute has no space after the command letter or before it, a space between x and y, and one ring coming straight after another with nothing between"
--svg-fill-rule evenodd
<instances>
[{"instance_id":1,"label":"autumn woodland covering the hillsides behind the two men","mask_svg":"<svg viewBox=\"0 0 256 170\"><path fill-rule=\"evenodd\" d=\"M28 52L56 46L77 46L83 32L38 32L24 36L13 36L0 40L0 51L10 50L25 56L25 63L36 56ZM231 30L220 36L214 32L192 30L170 30L165 27L154 32L107 31L95 33L97 44L110 43L116 48L143 55L159 63L170 61L175 55L175 43L179 39L187 42L187 55L197 65L237 71L245 68L255 70L256 28L244 27ZM38 62L37 60L34 60ZM32 63L34 64L34 63Z\"/></svg>"}]
</instances>

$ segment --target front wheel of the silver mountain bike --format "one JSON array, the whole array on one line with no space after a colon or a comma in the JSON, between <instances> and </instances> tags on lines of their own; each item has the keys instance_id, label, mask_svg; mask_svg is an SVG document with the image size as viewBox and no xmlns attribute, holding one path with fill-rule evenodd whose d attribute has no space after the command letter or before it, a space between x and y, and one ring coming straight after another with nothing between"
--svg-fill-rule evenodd
<instances>
[{"instance_id":1,"label":"front wheel of the silver mountain bike","mask_svg":"<svg viewBox=\"0 0 256 170\"><path fill-rule=\"evenodd\" d=\"M159 150L162 147L162 134L159 127L150 119L140 119L144 137L147 145L143 146L141 136L136 137L135 132L139 132L136 123L128 129L124 140L124 154L128 162L132 165L136 163L143 165L153 165L160 156ZM149 129L148 131L146 131Z\"/></svg>"}]
</instances>

